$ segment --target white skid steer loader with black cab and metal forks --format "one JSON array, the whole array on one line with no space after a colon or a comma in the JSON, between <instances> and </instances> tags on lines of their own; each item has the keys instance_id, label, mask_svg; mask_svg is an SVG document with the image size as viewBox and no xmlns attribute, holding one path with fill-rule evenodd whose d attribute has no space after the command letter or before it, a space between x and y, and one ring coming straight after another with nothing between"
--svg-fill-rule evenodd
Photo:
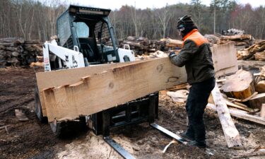
<instances>
[{"instance_id":1,"label":"white skid steer loader with black cab and metal forks","mask_svg":"<svg viewBox=\"0 0 265 159\"><path fill-rule=\"evenodd\" d=\"M45 42L43 45L45 71L135 61L134 52L129 49L129 46L124 46L128 49L118 48L114 28L108 17L109 14L109 9L69 6L57 19L57 41ZM40 91L36 86L35 112L38 119L45 122L47 117L42 113ZM89 126L96 135L102 134L103 139L124 158L133 158L110 138L110 129L149 122L151 126L167 135L182 140L172 132L155 124L156 118L158 118L158 93L151 93L145 97L73 121L54 121L50 123L50 126L56 136L61 136L68 131L76 130L76 128Z\"/></svg>"}]
</instances>

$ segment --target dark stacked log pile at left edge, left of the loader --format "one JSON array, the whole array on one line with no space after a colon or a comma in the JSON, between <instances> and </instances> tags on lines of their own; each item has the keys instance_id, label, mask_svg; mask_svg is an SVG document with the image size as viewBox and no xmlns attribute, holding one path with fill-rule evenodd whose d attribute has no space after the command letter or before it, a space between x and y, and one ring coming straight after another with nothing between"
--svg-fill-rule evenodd
<instances>
[{"instance_id":1,"label":"dark stacked log pile at left edge, left of the loader","mask_svg":"<svg viewBox=\"0 0 265 159\"><path fill-rule=\"evenodd\" d=\"M40 40L24 40L20 37L0 39L0 66L28 66L42 56Z\"/></svg>"}]
</instances>

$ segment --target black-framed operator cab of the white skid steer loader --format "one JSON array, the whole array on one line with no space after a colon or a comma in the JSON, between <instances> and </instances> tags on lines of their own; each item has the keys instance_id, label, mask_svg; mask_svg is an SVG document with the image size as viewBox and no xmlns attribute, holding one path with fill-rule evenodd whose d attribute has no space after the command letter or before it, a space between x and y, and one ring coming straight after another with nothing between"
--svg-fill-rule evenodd
<instances>
[{"instance_id":1,"label":"black-framed operator cab of the white skid steer loader","mask_svg":"<svg viewBox=\"0 0 265 159\"><path fill-rule=\"evenodd\" d=\"M119 62L109 14L109 9L69 6L57 19L59 45L68 49L77 47L89 64Z\"/></svg>"}]
</instances>

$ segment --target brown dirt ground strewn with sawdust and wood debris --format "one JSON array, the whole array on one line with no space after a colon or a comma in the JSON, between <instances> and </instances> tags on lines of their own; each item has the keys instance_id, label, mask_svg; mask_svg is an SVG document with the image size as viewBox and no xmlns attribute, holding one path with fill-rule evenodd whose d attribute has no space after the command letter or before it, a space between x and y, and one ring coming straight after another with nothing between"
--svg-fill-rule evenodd
<instances>
[{"instance_id":1,"label":"brown dirt ground strewn with sawdust and wood debris","mask_svg":"<svg viewBox=\"0 0 265 159\"><path fill-rule=\"evenodd\" d=\"M30 68L0 70L0 158L122 158L92 131L58 139L49 124L37 120L34 112L35 71ZM22 110L28 122L19 122L15 109ZM218 115L206 109L206 149L172 144L172 139L147 123L112 130L112 138L136 158L265 158L265 126L233 119L240 132L242 148L229 149ZM172 132L186 129L184 105L160 95L159 119L156 121Z\"/></svg>"}]
</instances>

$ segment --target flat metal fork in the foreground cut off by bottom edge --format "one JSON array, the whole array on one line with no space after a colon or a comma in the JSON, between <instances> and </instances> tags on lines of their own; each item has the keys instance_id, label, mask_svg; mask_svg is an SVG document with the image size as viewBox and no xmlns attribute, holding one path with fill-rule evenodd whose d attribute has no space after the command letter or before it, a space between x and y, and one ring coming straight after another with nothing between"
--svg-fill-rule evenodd
<instances>
[{"instance_id":1,"label":"flat metal fork in the foreground cut off by bottom edge","mask_svg":"<svg viewBox=\"0 0 265 159\"><path fill-rule=\"evenodd\" d=\"M104 141L106 141L112 148L114 148L119 155L122 155L125 159L136 159L134 156L132 156L128 151L126 151L122 146L119 145L116 141L114 141L110 136L104 136Z\"/></svg>"}]
</instances>

